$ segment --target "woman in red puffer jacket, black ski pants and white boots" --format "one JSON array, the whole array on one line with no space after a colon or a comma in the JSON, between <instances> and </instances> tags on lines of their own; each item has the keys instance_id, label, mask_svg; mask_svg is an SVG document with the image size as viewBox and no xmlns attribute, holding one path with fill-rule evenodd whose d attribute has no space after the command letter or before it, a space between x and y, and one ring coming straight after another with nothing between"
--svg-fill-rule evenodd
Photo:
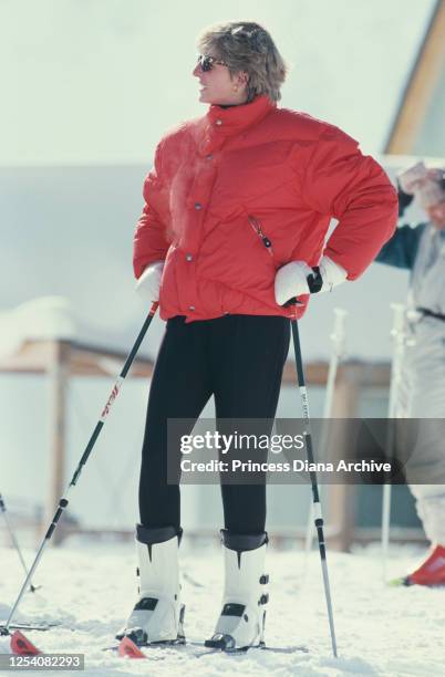
<instances>
[{"instance_id":1,"label":"woman in red puffer jacket, black ski pants and white boots","mask_svg":"<svg viewBox=\"0 0 445 677\"><path fill-rule=\"evenodd\" d=\"M384 171L354 139L277 107L286 66L263 28L211 27L198 45L193 74L210 105L161 140L134 243L139 289L159 300L167 321L143 446L139 601L120 635L139 644L183 635L167 419L196 420L214 395L218 421L263 419L270 433L290 319L301 317L311 290L330 291L365 270L397 210ZM339 225L324 247L331 217ZM289 303L296 296L300 304ZM268 598L266 487L222 485L221 492L225 592L207 645L258 645Z\"/></svg>"}]
</instances>

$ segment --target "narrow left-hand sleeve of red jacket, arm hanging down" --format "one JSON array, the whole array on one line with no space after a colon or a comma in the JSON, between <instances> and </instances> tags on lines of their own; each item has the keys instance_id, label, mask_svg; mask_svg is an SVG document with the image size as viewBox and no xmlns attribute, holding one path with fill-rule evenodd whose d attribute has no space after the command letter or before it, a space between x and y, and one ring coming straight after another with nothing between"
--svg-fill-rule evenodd
<instances>
[{"instance_id":1,"label":"narrow left-hand sleeve of red jacket, arm hanging down","mask_svg":"<svg viewBox=\"0 0 445 677\"><path fill-rule=\"evenodd\" d=\"M154 167L144 181L145 206L134 233L133 269L136 278L149 263L164 261L169 248L166 227L156 209L161 196L161 173L162 143L156 148Z\"/></svg>"}]
</instances>

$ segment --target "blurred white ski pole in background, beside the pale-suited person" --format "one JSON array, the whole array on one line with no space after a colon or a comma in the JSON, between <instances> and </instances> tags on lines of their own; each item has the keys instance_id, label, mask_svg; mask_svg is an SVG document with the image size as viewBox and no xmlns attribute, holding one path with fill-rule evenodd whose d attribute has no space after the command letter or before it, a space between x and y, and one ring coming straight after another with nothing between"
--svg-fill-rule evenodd
<instances>
[{"instance_id":1,"label":"blurred white ski pole in background, beside the pale-suited person","mask_svg":"<svg viewBox=\"0 0 445 677\"><path fill-rule=\"evenodd\" d=\"M396 414L396 396L400 387L402 358L405 343L405 306L402 303L392 303L393 326L391 336L393 340L393 358L391 367L390 382L390 400L387 405L389 433L386 439L386 451L392 452L394 444L393 423ZM386 561L387 549L390 544L390 524L391 524L391 494L392 485L385 482L383 485L382 494L382 577L386 581Z\"/></svg>"}]
</instances>

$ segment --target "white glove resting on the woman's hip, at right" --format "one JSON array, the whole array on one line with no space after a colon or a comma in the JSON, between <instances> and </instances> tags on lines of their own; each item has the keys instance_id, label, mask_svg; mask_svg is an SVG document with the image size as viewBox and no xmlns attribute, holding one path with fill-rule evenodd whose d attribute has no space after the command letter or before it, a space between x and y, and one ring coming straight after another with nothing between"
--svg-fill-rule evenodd
<instances>
[{"instance_id":1,"label":"white glove resting on the woman's hip, at right","mask_svg":"<svg viewBox=\"0 0 445 677\"><path fill-rule=\"evenodd\" d=\"M320 277L304 261L291 261L280 268L275 278L275 298L278 305L284 305L290 299L302 294L332 291L348 277L344 268L334 263L329 257L321 259L319 269ZM312 277L315 282L321 282L321 289L313 289L311 284L311 291L308 277Z\"/></svg>"}]
</instances>

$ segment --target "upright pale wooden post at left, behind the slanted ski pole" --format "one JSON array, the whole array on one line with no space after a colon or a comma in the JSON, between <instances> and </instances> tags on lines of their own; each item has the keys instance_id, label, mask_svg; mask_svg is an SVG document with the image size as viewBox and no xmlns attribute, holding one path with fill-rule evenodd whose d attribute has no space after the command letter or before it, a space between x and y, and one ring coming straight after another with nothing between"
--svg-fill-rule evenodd
<instances>
[{"instance_id":1,"label":"upright pale wooden post at left, behind the slanted ski pole","mask_svg":"<svg viewBox=\"0 0 445 677\"><path fill-rule=\"evenodd\" d=\"M48 367L50 389L50 488L46 498L45 528L65 490L66 387L70 372L70 343L54 341ZM61 524L63 517L61 519ZM52 537L54 545L62 541L61 525Z\"/></svg>"}]
</instances>

